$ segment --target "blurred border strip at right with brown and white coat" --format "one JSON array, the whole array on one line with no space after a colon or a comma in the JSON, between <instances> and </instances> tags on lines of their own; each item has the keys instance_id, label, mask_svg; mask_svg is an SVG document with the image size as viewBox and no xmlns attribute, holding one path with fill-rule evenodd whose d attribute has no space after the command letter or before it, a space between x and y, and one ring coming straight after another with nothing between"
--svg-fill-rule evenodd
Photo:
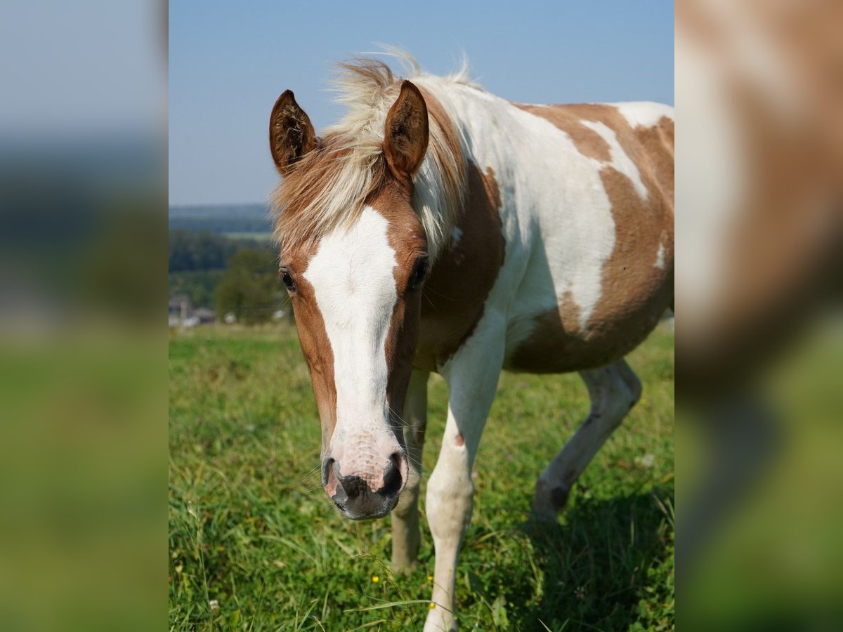
<instances>
[{"instance_id":1,"label":"blurred border strip at right with brown and white coat","mask_svg":"<svg viewBox=\"0 0 843 632\"><path fill-rule=\"evenodd\" d=\"M840 629L843 5L676 3L682 629Z\"/></svg>"}]
</instances>

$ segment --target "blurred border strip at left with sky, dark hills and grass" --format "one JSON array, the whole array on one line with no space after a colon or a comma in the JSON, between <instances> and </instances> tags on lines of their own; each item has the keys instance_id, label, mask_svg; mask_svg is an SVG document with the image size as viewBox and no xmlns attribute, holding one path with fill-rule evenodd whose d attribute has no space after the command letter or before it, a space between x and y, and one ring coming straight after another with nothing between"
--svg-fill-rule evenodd
<instances>
[{"instance_id":1,"label":"blurred border strip at left with sky, dark hills and grass","mask_svg":"<svg viewBox=\"0 0 843 632\"><path fill-rule=\"evenodd\" d=\"M0 8L3 629L165 617L164 11Z\"/></svg>"}]
</instances>

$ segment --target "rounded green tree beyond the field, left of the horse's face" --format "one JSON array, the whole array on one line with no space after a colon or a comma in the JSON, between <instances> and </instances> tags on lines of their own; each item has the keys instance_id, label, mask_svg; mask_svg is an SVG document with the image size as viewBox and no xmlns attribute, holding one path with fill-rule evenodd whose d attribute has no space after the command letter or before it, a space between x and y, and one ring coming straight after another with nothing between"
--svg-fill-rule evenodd
<instances>
[{"instance_id":1,"label":"rounded green tree beyond the field, left of the horse's face","mask_svg":"<svg viewBox=\"0 0 843 632\"><path fill-rule=\"evenodd\" d=\"M275 257L265 249L244 248L228 260L217 286L217 314L233 312L241 323L263 323L282 302Z\"/></svg>"}]
</instances>

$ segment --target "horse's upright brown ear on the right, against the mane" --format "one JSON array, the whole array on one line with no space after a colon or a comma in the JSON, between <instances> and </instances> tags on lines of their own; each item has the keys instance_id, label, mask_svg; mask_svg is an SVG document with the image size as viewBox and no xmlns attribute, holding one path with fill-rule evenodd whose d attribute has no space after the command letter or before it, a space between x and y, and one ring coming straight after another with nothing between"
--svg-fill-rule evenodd
<instances>
[{"instance_id":1,"label":"horse's upright brown ear on the right, against the mane","mask_svg":"<svg viewBox=\"0 0 843 632\"><path fill-rule=\"evenodd\" d=\"M427 105L419 88L405 81L384 130L384 156L395 178L409 182L427 152L427 140Z\"/></svg>"}]
</instances>

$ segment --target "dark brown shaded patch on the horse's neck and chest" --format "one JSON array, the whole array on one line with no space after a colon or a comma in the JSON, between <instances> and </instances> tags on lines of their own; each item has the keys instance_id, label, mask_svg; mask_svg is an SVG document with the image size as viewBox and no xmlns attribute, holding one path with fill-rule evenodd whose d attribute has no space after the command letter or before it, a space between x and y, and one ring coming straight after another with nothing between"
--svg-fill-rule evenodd
<instances>
[{"instance_id":1,"label":"dark brown shaded patch on the horse's neck and chest","mask_svg":"<svg viewBox=\"0 0 843 632\"><path fill-rule=\"evenodd\" d=\"M421 298L415 366L437 371L464 343L483 315L486 298L503 265L506 243L494 171L468 164L459 244L439 255Z\"/></svg>"}]
</instances>

